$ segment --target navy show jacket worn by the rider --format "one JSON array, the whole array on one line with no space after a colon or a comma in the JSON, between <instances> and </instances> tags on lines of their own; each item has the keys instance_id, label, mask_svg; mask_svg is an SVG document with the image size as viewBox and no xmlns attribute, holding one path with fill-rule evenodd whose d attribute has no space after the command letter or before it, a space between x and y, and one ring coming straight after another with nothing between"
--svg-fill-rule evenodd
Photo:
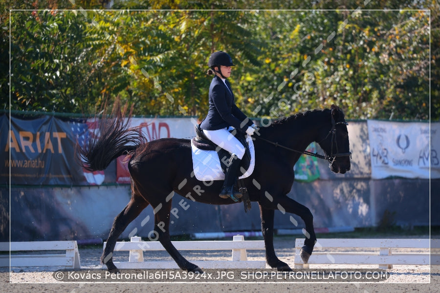
<instances>
[{"instance_id":1,"label":"navy show jacket worn by the rider","mask_svg":"<svg viewBox=\"0 0 440 293\"><path fill-rule=\"evenodd\" d=\"M253 122L247 119L247 116L235 105L234 94L227 80L226 84L217 75L212 79L209 86L208 115L200 124L200 128L218 130L233 126L242 132L246 132L247 127L251 126ZM245 120L247 122L243 123Z\"/></svg>"}]
</instances>

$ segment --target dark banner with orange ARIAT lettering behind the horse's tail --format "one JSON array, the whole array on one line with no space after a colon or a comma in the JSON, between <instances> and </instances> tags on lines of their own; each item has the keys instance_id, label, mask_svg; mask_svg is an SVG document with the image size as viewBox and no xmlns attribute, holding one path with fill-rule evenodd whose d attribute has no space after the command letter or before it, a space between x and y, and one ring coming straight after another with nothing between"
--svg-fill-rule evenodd
<instances>
[{"instance_id":1,"label":"dark banner with orange ARIAT lettering behind the horse's tail","mask_svg":"<svg viewBox=\"0 0 440 293\"><path fill-rule=\"evenodd\" d=\"M0 122L1 184L88 184L74 159L77 135L87 131L85 123L52 116L9 120L7 115Z\"/></svg>"}]
</instances>

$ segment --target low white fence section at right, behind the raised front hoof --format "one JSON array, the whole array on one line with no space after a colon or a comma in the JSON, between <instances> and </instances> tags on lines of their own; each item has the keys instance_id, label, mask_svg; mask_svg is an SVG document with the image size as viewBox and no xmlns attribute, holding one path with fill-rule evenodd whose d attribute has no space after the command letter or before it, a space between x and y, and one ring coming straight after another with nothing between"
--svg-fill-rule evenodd
<instances>
[{"instance_id":1,"label":"low white fence section at right, behind the raised front hoof","mask_svg":"<svg viewBox=\"0 0 440 293\"><path fill-rule=\"evenodd\" d=\"M308 264L300 256L304 239L295 242L295 268L308 265L378 265L391 269L393 265L429 265L430 239L318 239ZM341 248L346 252L341 252ZM402 252L417 249L418 252ZM423 253L420 253L420 249ZM368 252L363 252L368 251ZM374 251L374 252L372 252ZM438 259L437 254L437 259ZM431 262L431 264L435 264ZM438 263L440 264L440 263Z\"/></svg>"}]
</instances>

